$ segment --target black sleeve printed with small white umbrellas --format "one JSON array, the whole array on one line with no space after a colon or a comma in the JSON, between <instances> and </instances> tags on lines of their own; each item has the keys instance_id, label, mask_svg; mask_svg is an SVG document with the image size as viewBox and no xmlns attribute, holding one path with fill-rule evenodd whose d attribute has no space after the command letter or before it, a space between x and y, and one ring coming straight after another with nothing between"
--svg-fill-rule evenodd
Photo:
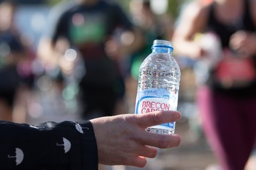
<instances>
[{"instance_id":1,"label":"black sleeve printed with small white umbrellas","mask_svg":"<svg viewBox=\"0 0 256 170\"><path fill-rule=\"evenodd\" d=\"M0 121L0 169L98 169L92 123Z\"/></svg>"}]
</instances>

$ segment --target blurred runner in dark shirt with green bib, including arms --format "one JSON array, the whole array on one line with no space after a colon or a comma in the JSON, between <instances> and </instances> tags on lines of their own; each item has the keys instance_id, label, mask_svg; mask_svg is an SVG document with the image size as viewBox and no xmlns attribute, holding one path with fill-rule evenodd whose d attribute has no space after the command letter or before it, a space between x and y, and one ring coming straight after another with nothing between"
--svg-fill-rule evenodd
<instances>
[{"instance_id":1,"label":"blurred runner in dark shirt with green bib, including arms","mask_svg":"<svg viewBox=\"0 0 256 170\"><path fill-rule=\"evenodd\" d=\"M125 93L120 50L136 47L130 20L120 6L102 0L61 4L52 15L57 19L42 38L39 57L46 65L60 66L65 74L67 66L61 65L61 56L68 48L76 50L85 70L77 80L84 119L111 116Z\"/></svg>"}]
</instances>

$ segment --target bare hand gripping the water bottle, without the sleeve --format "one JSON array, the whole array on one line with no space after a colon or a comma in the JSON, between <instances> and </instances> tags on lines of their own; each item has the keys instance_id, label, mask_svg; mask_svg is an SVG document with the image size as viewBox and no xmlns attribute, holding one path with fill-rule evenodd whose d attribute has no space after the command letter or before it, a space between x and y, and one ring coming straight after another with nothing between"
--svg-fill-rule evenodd
<instances>
[{"instance_id":1,"label":"bare hand gripping the water bottle, without the sleeve","mask_svg":"<svg viewBox=\"0 0 256 170\"><path fill-rule=\"evenodd\" d=\"M179 146L179 135L146 132L147 127L177 121L177 111L122 114L91 120L98 146L99 163L144 167L145 157L154 158L157 148Z\"/></svg>"}]
</instances>

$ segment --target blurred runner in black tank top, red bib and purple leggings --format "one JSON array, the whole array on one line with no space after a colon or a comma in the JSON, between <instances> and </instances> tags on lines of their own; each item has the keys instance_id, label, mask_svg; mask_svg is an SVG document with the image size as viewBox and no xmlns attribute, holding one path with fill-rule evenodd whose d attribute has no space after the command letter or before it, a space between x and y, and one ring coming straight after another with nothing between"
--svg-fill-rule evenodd
<instances>
[{"instance_id":1,"label":"blurred runner in black tank top, red bib and purple leggings","mask_svg":"<svg viewBox=\"0 0 256 170\"><path fill-rule=\"evenodd\" d=\"M173 35L198 60L202 127L223 170L244 169L256 137L256 1L193 1ZM203 69L204 68L204 69Z\"/></svg>"}]
</instances>

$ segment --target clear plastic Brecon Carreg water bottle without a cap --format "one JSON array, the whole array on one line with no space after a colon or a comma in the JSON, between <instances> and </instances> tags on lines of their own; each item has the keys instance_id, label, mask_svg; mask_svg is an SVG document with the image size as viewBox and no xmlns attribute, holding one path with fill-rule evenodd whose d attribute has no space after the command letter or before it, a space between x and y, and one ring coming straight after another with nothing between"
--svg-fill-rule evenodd
<instances>
[{"instance_id":1,"label":"clear plastic Brecon Carreg water bottle without a cap","mask_svg":"<svg viewBox=\"0 0 256 170\"><path fill-rule=\"evenodd\" d=\"M177 111L180 68L172 56L172 42L154 40L152 53L140 66L135 114ZM175 122L148 127L148 132L174 134Z\"/></svg>"}]
</instances>

